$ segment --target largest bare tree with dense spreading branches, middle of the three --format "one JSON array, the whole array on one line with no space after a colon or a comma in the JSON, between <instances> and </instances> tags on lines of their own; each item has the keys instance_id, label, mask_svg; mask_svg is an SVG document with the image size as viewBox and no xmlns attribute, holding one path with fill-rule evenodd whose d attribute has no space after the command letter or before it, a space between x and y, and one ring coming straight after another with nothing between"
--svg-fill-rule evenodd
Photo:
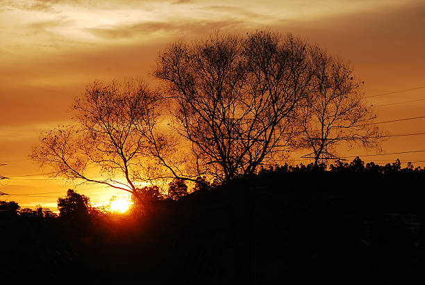
<instances>
[{"instance_id":1,"label":"largest bare tree with dense spreading branches, middle of the three","mask_svg":"<svg viewBox=\"0 0 425 285\"><path fill-rule=\"evenodd\" d=\"M308 44L257 32L171 44L155 75L173 98L174 128L190 142L197 174L251 174L290 145L310 93Z\"/></svg>"}]
</instances>

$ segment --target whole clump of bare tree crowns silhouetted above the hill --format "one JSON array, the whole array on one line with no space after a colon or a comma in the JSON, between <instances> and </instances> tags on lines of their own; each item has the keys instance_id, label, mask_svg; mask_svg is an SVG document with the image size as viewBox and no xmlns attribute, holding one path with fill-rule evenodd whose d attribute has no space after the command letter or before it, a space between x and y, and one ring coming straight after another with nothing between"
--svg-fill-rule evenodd
<instances>
[{"instance_id":1,"label":"whole clump of bare tree crowns silhouetted above the hill","mask_svg":"<svg viewBox=\"0 0 425 285\"><path fill-rule=\"evenodd\" d=\"M317 165L340 142L381 140L349 65L290 34L174 42L153 75L154 90L135 80L86 86L73 122L44 133L31 158L53 177L126 190L143 203L165 195L149 192L158 179L217 184L283 163L293 150L313 150ZM178 185L169 197L183 195Z\"/></svg>"}]
</instances>

